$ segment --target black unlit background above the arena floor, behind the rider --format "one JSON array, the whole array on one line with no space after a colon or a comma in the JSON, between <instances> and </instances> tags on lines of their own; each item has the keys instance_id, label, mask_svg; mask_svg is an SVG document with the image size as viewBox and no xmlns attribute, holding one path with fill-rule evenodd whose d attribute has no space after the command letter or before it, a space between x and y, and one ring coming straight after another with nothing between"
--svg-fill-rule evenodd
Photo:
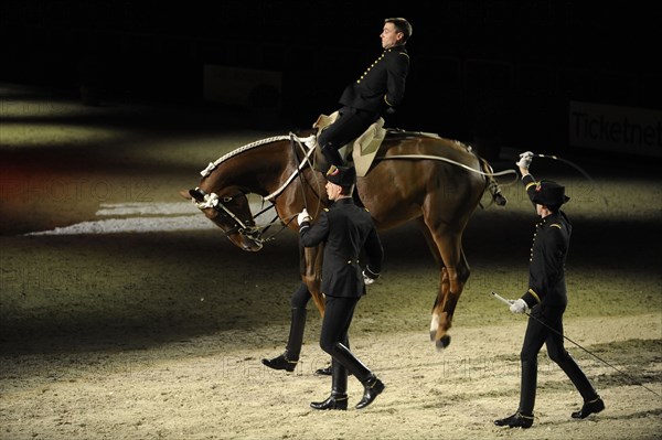
<instances>
[{"instance_id":1,"label":"black unlit background above the arena floor, behind the rider","mask_svg":"<svg viewBox=\"0 0 662 440\"><path fill-rule=\"evenodd\" d=\"M281 94L253 110L308 128L381 53L383 19L406 17L407 94L387 126L559 151L570 100L661 107L659 22L645 4L3 1L0 81L218 109L203 99L205 64L279 71Z\"/></svg>"}]
</instances>

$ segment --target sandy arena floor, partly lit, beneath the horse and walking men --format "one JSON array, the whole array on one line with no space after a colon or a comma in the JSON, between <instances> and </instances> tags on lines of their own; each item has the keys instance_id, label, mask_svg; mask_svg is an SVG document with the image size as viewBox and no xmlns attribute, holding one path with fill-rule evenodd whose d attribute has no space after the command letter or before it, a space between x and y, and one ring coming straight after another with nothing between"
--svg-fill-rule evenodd
<instances>
[{"instance_id":1,"label":"sandy arena floor, partly lit, beneath the horse and walking men","mask_svg":"<svg viewBox=\"0 0 662 440\"><path fill-rule=\"evenodd\" d=\"M350 378L350 410L319 412L308 405L330 379L313 374L328 359L312 304L295 373L260 364L285 346L296 236L242 253L178 195L209 161L274 133L209 109L0 90L1 439L662 438L653 161L576 159L594 182L556 162L532 169L573 196L566 335L591 354L566 346L605 411L572 419L580 397L543 351L534 427L492 425L517 405L525 318L489 292L523 291L535 221L511 185L506 208L477 212L467 229L472 276L444 352L427 335L438 279L423 238L383 234L384 277L351 337L386 390L355 410Z\"/></svg>"}]
</instances>

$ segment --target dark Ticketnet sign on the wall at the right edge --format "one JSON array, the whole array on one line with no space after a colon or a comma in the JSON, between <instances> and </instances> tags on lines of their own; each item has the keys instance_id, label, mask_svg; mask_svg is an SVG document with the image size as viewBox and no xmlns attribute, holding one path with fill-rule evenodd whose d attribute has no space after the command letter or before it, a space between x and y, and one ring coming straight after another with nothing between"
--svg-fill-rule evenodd
<instances>
[{"instance_id":1,"label":"dark Ticketnet sign on the wall at the right edge","mask_svg":"<svg viewBox=\"0 0 662 440\"><path fill-rule=\"evenodd\" d=\"M569 143L662 157L662 111L570 101Z\"/></svg>"}]
</instances>

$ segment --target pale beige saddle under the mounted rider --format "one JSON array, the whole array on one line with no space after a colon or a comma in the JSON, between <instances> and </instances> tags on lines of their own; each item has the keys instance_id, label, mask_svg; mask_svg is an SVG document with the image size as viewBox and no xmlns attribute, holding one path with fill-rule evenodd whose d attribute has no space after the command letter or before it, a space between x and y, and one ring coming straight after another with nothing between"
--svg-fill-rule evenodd
<instances>
[{"instance_id":1,"label":"pale beige saddle under the mounted rider","mask_svg":"<svg viewBox=\"0 0 662 440\"><path fill-rule=\"evenodd\" d=\"M319 137L322 130L335 122L339 112L334 111L331 115L320 115L317 121L312 125L312 128L317 129L316 137ZM377 119L373 122L367 130L360 137L354 139L352 142L343 146L338 150L340 157L345 162L345 165L353 165L356 170L356 176L363 178L367 174L367 170L373 163L382 141L386 137L386 129L384 128L384 118ZM321 152L319 144L316 142L316 163L327 164L327 159ZM323 170L318 170L323 171Z\"/></svg>"}]
</instances>

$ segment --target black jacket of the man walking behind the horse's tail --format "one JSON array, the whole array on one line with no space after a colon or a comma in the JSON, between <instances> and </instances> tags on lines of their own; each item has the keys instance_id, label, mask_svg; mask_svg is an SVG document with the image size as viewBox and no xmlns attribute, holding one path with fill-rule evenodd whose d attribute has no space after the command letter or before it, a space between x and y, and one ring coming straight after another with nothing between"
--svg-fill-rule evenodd
<instances>
[{"instance_id":1,"label":"black jacket of the man walking behind the horse's tail","mask_svg":"<svg viewBox=\"0 0 662 440\"><path fill-rule=\"evenodd\" d=\"M528 197L533 197L536 187L533 175L523 176L522 183ZM570 221L562 211L536 224L528 265L528 290L522 297L530 308L542 304L543 308L565 310L565 262L572 232Z\"/></svg>"}]
</instances>

